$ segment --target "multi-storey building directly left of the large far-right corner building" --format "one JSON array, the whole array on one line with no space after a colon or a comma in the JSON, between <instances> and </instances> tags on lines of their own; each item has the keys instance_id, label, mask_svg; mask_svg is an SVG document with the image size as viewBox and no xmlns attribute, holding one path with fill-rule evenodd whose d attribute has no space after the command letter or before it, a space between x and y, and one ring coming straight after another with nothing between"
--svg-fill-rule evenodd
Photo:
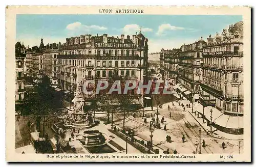
<instances>
[{"instance_id":1,"label":"multi-storey building directly left of the large far-right corner building","mask_svg":"<svg viewBox=\"0 0 256 167\"><path fill-rule=\"evenodd\" d=\"M203 63L202 52L205 41L201 39L193 44L182 45L179 51L179 67L177 87L191 100L193 94L200 94L200 82L202 80L201 63Z\"/></svg>"}]
</instances>

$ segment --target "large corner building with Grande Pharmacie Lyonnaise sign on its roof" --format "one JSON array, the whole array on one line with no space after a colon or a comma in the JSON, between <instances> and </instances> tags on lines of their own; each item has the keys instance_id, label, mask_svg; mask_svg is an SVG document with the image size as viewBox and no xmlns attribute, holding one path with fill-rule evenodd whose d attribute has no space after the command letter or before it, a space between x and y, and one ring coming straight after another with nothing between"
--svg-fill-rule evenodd
<instances>
[{"instance_id":1,"label":"large corner building with Grande Pharmacie Lyonnaise sign on its roof","mask_svg":"<svg viewBox=\"0 0 256 167\"><path fill-rule=\"evenodd\" d=\"M124 38L81 35L66 39L57 55L57 78L62 89L75 91L80 66L83 80L122 76L144 80L147 76L147 38L141 33ZM86 86L87 87L87 86Z\"/></svg>"}]
</instances>

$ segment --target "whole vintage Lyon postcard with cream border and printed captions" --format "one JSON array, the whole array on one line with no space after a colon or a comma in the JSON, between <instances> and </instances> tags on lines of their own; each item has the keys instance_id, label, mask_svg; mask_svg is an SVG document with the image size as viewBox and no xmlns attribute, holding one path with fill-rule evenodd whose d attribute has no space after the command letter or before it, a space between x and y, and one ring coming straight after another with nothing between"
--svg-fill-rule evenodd
<instances>
[{"instance_id":1,"label":"whole vintage Lyon postcard with cream border and printed captions","mask_svg":"<svg viewBox=\"0 0 256 167\"><path fill-rule=\"evenodd\" d=\"M250 8L44 8L6 9L8 161L250 161Z\"/></svg>"}]
</instances>

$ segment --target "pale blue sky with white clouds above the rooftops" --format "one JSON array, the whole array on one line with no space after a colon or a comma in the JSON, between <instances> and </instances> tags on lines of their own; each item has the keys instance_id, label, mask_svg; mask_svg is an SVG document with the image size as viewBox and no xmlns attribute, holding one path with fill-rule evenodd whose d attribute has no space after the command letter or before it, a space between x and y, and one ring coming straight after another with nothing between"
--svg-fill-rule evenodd
<instances>
[{"instance_id":1,"label":"pale blue sky with white clouds above the rooftops","mask_svg":"<svg viewBox=\"0 0 256 167\"><path fill-rule=\"evenodd\" d=\"M65 43L66 38L84 34L119 37L141 33L148 38L148 52L204 40L242 21L241 15L17 15L16 40L27 47Z\"/></svg>"}]
</instances>

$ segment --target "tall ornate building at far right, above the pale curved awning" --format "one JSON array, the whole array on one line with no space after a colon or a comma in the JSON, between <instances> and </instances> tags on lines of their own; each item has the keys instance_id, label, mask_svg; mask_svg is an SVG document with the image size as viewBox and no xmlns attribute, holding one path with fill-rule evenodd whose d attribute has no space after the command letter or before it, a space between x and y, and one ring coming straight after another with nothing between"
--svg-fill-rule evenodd
<instances>
[{"instance_id":1,"label":"tall ornate building at far right, above the pale curved awning","mask_svg":"<svg viewBox=\"0 0 256 167\"><path fill-rule=\"evenodd\" d=\"M203 46L202 95L224 113L243 113L243 22L231 25Z\"/></svg>"}]
</instances>

